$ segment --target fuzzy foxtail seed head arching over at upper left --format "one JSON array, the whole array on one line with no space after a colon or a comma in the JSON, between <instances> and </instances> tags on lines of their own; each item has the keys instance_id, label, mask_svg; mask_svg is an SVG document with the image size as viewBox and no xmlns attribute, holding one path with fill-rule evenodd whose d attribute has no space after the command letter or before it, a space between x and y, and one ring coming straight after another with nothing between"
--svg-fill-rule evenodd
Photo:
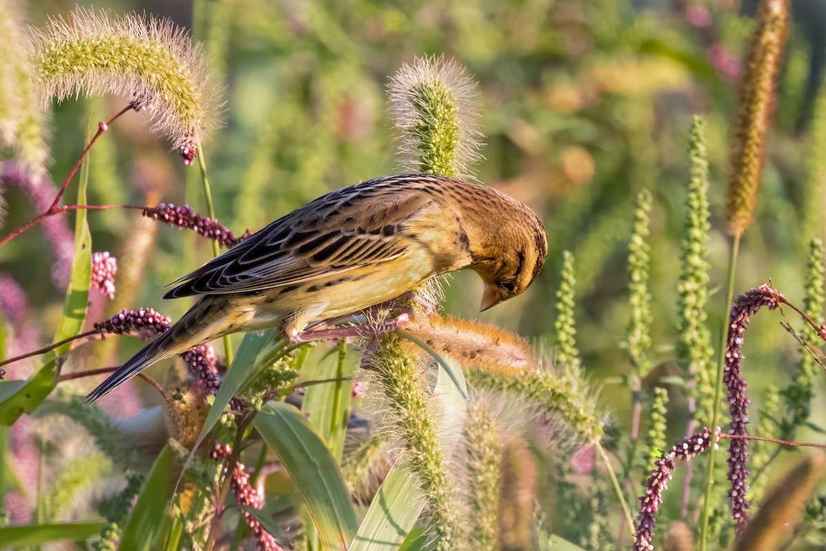
<instances>
[{"instance_id":1,"label":"fuzzy foxtail seed head arching over at upper left","mask_svg":"<svg viewBox=\"0 0 826 551\"><path fill-rule=\"evenodd\" d=\"M40 102L114 93L146 112L188 164L216 125L220 91L188 33L171 21L76 8L31 28L28 50Z\"/></svg>"}]
</instances>

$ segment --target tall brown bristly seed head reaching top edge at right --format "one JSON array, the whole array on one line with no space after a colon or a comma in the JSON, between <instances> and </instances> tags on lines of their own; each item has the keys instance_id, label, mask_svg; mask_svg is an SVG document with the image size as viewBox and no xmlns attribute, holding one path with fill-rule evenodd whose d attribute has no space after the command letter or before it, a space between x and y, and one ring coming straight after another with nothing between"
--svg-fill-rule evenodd
<instances>
[{"instance_id":1,"label":"tall brown bristly seed head reaching top edge at right","mask_svg":"<svg viewBox=\"0 0 826 551\"><path fill-rule=\"evenodd\" d=\"M789 0L761 0L740 80L729 150L726 219L732 235L752 223L757 205L776 78L790 18Z\"/></svg>"}]
</instances>

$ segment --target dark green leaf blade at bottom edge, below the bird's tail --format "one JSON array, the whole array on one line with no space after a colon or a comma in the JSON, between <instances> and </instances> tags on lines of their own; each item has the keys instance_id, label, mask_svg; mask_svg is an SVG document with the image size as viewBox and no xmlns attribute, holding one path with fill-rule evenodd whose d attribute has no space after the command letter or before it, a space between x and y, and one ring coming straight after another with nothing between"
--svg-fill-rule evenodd
<instances>
[{"instance_id":1,"label":"dark green leaf blade at bottom edge, below the bird's tail","mask_svg":"<svg viewBox=\"0 0 826 551\"><path fill-rule=\"evenodd\" d=\"M164 446L154 465L138 501L126 521L126 527L121 534L119 549L130 551L149 551L154 540L158 537L166 523L169 502L172 501L175 477L178 476L178 466L175 463L175 454L169 445Z\"/></svg>"}]
</instances>

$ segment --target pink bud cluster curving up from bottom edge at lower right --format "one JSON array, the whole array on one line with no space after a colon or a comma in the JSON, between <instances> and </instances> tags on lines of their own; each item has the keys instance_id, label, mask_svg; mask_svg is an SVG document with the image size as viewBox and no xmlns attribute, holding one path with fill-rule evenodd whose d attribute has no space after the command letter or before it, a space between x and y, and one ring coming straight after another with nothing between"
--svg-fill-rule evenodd
<instances>
[{"instance_id":1,"label":"pink bud cluster curving up from bottom edge at lower right","mask_svg":"<svg viewBox=\"0 0 826 551\"><path fill-rule=\"evenodd\" d=\"M707 428L691 436L676 441L672 449L663 452L654 462L651 477L645 482L645 494L639 498L640 507L637 515L637 531L634 532L634 551L652 551L651 540L654 538L654 526L657 525L657 512L662 503L662 492L667 490L668 481L677 461L690 461L702 454L712 445L717 445L719 430L712 435Z\"/></svg>"}]
</instances>

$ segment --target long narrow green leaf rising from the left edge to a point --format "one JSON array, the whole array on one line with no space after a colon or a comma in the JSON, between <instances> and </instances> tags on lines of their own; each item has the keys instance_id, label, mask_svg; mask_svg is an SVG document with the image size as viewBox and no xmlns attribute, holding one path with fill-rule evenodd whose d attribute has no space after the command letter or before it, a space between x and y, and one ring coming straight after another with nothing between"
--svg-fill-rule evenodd
<instances>
[{"instance_id":1,"label":"long narrow green leaf rising from the left edge to a point","mask_svg":"<svg viewBox=\"0 0 826 551\"><path fill-rule=\"evenodd\" d=\"M78 205L86 204L88 183L88 156L80 172ZM89 281L92 278L92 234L86 221L86 211L78 209L74 226L74 256L72 275L66 289L63 316L60 318L55 340L68 339L83 330L86 306L89 298ZM0 425L11 426L23 413L35 411L57 385L59 356L69 352L69 343L45 354L40 368L26 382L3 382L0 387ZM62 360L61 360L62 361Z\"/></svg>"}]
</instances>

